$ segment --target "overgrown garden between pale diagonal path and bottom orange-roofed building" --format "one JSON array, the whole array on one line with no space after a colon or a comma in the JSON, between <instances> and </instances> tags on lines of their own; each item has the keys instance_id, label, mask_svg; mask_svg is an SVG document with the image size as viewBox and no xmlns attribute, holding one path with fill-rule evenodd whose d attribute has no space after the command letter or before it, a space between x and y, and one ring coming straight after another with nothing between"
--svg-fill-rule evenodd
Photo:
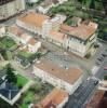
<instances>
[{"instance_id":1,"label":"overgrown garden between pale diagonal path and bottom orange-roofed building","mask_svg":"<svg viewBox=\"0 0 107 108\"><path fill-rule=\"evenodd\" d=\"M22 98L17 102L21 108L28 108L30 104L38 104L51 91L53 86L48 83L36 81L35 85L22 95Z\"/></svg>"}]
</instances>

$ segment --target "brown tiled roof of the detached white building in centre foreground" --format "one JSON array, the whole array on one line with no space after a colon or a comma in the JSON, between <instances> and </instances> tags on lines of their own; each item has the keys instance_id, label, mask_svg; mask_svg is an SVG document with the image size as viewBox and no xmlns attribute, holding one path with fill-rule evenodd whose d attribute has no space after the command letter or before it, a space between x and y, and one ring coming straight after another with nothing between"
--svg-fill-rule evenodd
<instances>
[{"instance_id":1,"label":"brown tiled roof of the detached white building in centre foreground","mask_svg":"<svg viewBox=\"0 0 107 108\"><path fill-rule=\"evenodd\" d=\"M41 59L40 63L36 64L36 67L68 82L69 84L73 84L83 73L83 71L78 67L65 69L48 59Z\"/></svg>"}]
</instances>

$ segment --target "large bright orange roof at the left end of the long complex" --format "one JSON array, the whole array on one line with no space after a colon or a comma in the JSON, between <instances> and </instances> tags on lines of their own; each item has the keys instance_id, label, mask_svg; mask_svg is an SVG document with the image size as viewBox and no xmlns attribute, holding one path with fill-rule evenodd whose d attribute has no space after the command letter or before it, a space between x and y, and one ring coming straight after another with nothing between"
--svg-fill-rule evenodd
<instances>
[{"instance_id":1,"label":"large bright orange roof at the left end of the long complex","mask_svg":"<svg viewBox=\"0 0 107 108\"><path fill-rule=\"evenodd\" d=\"M34 13L34 12L30 12L30 13L26 14L25 16L18 17L19 21L22 21L26 24L36 26L36 27L42 27L42 23L48 18L49 18L49 16L46 16L46 15Z\"/></svg>"}]
</instances>

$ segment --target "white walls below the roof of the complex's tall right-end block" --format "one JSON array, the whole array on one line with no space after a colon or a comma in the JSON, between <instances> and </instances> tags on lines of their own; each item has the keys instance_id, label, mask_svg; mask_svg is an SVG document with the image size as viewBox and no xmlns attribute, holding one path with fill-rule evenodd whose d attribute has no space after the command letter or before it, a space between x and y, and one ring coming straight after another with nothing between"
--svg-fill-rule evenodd
<instances>
[{"instance_id":1,"label":"white walls below the roof of the complex's tall right-end block","mask_svg":"<svg viewBox=\"0 0 107 108\"><path fill-rule=\"evenodd\" d=\"M97 33L92 35L86 40L81 40L76 37L68 37L65 41L66 49L81 57L84 57L97 40Z\"/></svg>"}]
</instances>

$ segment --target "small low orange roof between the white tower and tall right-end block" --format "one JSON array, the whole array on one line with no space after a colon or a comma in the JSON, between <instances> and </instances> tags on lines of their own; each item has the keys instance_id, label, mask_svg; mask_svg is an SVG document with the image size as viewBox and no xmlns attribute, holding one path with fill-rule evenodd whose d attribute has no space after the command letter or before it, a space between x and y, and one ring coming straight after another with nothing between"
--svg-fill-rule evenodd
<instances>
[{"instance_id":1,"label":"small low orange roof between the white tower and tall right-end block","mask_svg":"<svg viewBox=\"0 0 107 108\"><path fill-rule=\"evenodd\" d=\"M54 30L51 30L50 31L50 37L53 39L53 40L56 40L56 41L59 41L59 42L64 42L64 39L67 37L65 33L62 33L59 31L54 31Z\"/></svg>"}]
</instances>

